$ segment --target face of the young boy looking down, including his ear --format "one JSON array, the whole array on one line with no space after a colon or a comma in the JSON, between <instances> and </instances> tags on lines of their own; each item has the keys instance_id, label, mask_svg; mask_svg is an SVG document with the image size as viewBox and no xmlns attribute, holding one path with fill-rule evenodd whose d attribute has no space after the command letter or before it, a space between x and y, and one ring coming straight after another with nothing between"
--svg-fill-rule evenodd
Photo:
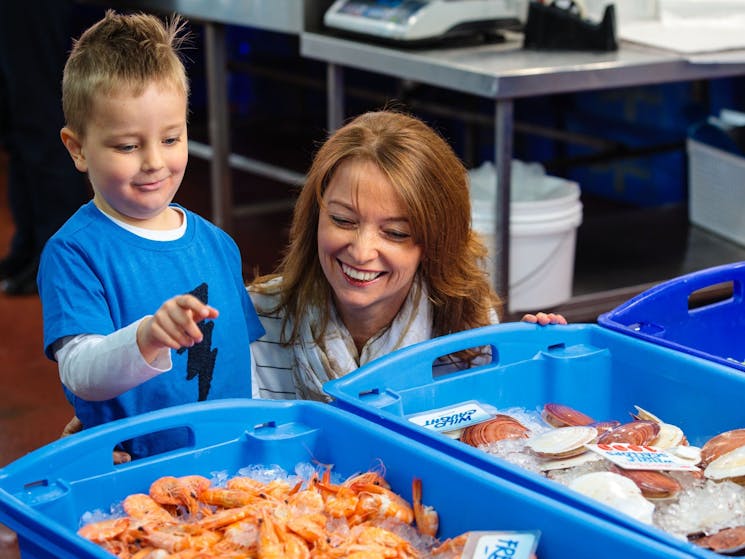
<instances>
[{"instance_id":1,"label":"face of the young boy looking down, including his ear","mask_svg":"<svg viewBox=\"0 0 745 559\"><path fill-rule=\"evenodd\" d=\"M188 159L183 92L156 83L139 97L99 95L85 137L63 129L62 139L102 211L139 227L171 228L167 209Z\"/></svg>"}]
</instances>

